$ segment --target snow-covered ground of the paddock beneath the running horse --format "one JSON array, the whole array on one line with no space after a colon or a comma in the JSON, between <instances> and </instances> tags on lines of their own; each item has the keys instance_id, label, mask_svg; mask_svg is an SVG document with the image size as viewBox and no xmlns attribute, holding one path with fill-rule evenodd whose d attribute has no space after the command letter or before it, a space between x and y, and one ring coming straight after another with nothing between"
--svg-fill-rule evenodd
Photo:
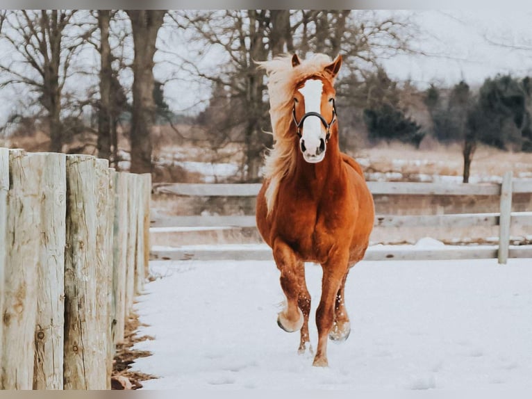
<instances>
[{"instance_id":1,"label":"snow-covered ground of the paddock beneath the running horse","mask_svg":"<svg viewBox=\"0 0 532 399\"><path fill-rule=\"evenodd\" d=\"M347 279L351 336L329 368L297 355L276 325L283 293L271 261L160 261L135 305L154 337L133 368L144 389L482 390L532 388L532 259L360 262ZM313 297L321 268L306 266Z\"/></svg>"}]
</instances>

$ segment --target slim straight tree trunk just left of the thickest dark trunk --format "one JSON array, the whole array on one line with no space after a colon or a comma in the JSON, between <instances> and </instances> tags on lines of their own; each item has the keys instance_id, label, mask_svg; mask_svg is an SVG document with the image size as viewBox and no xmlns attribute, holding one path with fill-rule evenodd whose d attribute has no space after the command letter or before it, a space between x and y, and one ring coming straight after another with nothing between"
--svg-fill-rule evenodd
<instances>
[{"instance_id":1,"label":"slim straight tree trunk just left of the thickest dark trunk","mask_svg":"<svg viewBox=\"0 0 532 399\"><path fill-rule=\"evenodd\" d=\"M98 10L98 25L101 34L100 44L100 106L98 113L98 156L109 159L111 155L111 113L110 95L111 49L109 45L110 10Z\"/></svg>"}]
</instances>

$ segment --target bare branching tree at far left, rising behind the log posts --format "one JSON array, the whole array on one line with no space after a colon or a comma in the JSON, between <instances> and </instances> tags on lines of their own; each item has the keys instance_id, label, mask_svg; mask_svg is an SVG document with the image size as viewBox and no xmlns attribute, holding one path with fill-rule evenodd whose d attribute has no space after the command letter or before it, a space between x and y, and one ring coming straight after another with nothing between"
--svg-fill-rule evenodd
<instances>
[{"instance_id":1,"label":"bare branching tree at far left, rising behind the log posts","mask_svg":"<svg viewBox=\"0 0 532 399\"><path fill-rule=\"evenodd\" d=\"M51 152L61 152L60 112L65 81L72 76L72 58L83 43L83 31L72 25L76 10L15 10L3 19L1 38L13 56L0 61L0 87L26 85L47 111Z\"/></svg>"}]
</instances>

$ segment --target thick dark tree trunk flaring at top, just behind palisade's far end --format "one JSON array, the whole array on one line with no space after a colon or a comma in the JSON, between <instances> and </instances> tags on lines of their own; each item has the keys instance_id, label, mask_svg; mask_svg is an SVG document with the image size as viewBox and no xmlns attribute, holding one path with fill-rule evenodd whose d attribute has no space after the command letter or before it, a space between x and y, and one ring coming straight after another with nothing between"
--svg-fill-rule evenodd
<instances>
[{"instance_id":1,"label":"thick dark tree trunk flaring at top, just behind palisade's far end","mask_svg":"<svg viewBox=\"0 0 532 399\"><path fill-rule=\"evenodd\" d=\"M133 116L131 120L131 172L151 173L151 129L155 120L153 55L165 10L126 10L131 19L133 60Z\"/></svg>"}]
</instances>

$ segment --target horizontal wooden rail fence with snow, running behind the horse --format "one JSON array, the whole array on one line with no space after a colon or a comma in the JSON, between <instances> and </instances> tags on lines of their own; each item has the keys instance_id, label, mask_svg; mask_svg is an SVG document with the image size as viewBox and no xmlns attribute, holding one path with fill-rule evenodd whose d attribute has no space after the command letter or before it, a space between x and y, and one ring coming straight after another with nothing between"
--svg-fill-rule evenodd
<instances>
[{"instance_id":1,"label":"horizontal wooden rail fence with snow, running behind the horse","mask_svg":"<svg viewBox=\"0 0 532 399\"><path fill-rule=\"evenodd\" d=\"M154 184L156 194L184 196L238 196L253 197L258 194L260 184ZM409 250L397 246L370 247L365 260L382 261L417 260L417 259L479 259L498 258L499 263L506 263L508 258L532 258L529 246L513 246L510 243L512 227L532 226L532 209L526 212L511 212L513 193L532 193L532 180L512 179L512 173L504 175L501 184L451 184L451 183L416 183L416 182L381 182L369 181L369 189L374 195L474 195L500 197L500 210L497 213L460 213L447 215L376 215L376 227L492 227L499 226L499 246L449 246L430 250ZM152 215L153 231L172 227L255 227L254 215L222 215L222 216L172 216ZM269 248L247 247L240 250L227 250L223 247L172 248L172 250L151 250L152 259L272 259Z\"/></svg>"}]
</instances>

